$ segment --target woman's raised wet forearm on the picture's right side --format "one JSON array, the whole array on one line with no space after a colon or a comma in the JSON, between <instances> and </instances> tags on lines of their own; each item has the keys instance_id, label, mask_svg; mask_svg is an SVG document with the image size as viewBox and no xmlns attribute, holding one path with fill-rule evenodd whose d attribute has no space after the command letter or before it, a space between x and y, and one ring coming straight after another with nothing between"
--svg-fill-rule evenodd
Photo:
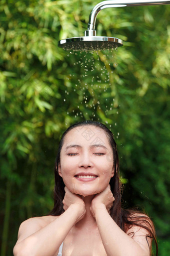
<instances>
[{"instance_id":1,"label":"woman's raised wet forearm on the picture's right side","mask_svg":"<svg viewBox=\"0 0 170 256\"><path fill-rule=\"evenodd\" d=\"M113 221L104 205L96 210L95 219L108 256L146 256L140 245Z\"/></svg>"}]
</instances>

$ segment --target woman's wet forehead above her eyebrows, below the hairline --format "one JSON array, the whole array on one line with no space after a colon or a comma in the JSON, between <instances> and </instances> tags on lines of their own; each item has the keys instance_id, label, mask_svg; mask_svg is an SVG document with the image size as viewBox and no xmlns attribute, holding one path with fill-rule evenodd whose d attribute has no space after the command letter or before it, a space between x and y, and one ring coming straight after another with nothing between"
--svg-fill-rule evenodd
<instances>
[{"instance_id":1,"label":"woman's wet forehead above her eyebrows, below the hairline","mask_svg":"<svg viewBox=\"0 0 170 256\"><path fill-rule=\"evenodd\" d=\"M93 125L78 126L70 130L65 135L63 146L66 147L70 143L110 147L105 131Z\"/></svg>"}]
</instances>

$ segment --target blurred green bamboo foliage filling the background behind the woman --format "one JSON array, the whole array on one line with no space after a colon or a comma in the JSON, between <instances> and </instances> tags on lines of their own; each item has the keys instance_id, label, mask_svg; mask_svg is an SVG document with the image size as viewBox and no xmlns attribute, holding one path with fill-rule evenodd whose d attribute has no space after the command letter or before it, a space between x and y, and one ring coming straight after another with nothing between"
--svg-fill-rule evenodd
<instances>
[{"instance_id":1,"label":"blurred green bamboo foliage filling the background behind the woman","mask_svg":"<svg viewBox=\"0 0 170 256\"><path fill-rule=\"evenodd\" d=\"M97 35L124 40L114 52L67 53L98 1L0 4L0 233L9 256L19 224L53 206L53 166L71 123L99 120L118 146L124 205L141 205L169 250L170 8L103 10ZM68 56L67 56L68 55Z\"/></svg>"}]
</instances>

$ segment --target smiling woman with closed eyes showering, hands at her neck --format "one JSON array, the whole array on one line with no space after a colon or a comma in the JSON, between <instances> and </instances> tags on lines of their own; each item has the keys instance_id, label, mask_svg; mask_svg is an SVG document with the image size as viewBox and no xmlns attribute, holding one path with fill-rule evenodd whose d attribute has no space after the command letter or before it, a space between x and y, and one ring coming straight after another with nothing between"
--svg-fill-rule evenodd
<instances>
[{"instance_id":1,"label":"smiling woman with closed eyes showering, hands at her neck","mask_svg":"<svg viewBox=\"0 0 170 256\"><path fill-rule=\"evenodd\" d=\"M68 127L56 157L54 208L21 223L14 256L149 256L153 224L145 214L121 208L118 168L116 144L104 124Z\"/></svg>"}]
</instances>

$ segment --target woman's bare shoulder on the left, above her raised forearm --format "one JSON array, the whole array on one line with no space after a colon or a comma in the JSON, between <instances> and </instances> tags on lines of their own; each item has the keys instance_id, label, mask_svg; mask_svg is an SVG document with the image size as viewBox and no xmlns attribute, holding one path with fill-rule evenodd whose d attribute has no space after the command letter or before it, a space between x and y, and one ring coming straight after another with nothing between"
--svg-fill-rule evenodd
<instances>
[{"instance_id":1,"label":"woman's bare shoulder on the left, above her raised forearm","mask_svg":"<svg viewBox=\"0 0 170 256\"><path fill-rule=\"evenodd\" d=\"M17 237L18 240L16 243L22 241L29 235L35 233L36 231L43 228L44 226L46 226L56 218L57 216L49 215L49 216L42 216L42 217L33 217L33 218L24 220L19 226L18 237Z\"/></svg>"}]
</instances>

